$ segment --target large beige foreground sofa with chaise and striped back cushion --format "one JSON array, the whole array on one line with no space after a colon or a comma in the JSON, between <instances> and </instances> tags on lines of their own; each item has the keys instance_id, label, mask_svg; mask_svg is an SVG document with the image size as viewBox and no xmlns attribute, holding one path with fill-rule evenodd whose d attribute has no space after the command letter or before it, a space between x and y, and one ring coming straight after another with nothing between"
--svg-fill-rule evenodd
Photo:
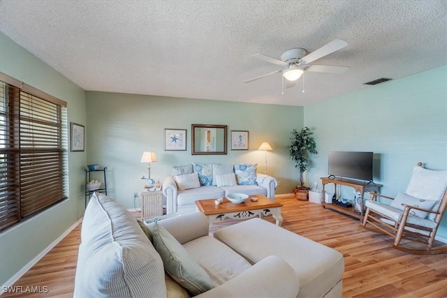
<instances>
[{"instance_id":1,"label":"large beige foreground sofa with chaise and striped back cushion","mask_svg":"<svg viewBox=\"0 0 447 298\"><path fill-rule=\"evenodd\" d=\"M214 237L199 212L152 225L148 237L124 207L94 194L82 221L74 297L342 296L340 253L260 218L218 230ZM166 258L161 244L181 252L173 248L175 258ZM186 261L179 264L182 258ZM193 266L202 272L186 272ZM184 271L178 276L172 267ZM197 276L203 273L210 285L200 292Z\"/></svg>"}]
</instances>

